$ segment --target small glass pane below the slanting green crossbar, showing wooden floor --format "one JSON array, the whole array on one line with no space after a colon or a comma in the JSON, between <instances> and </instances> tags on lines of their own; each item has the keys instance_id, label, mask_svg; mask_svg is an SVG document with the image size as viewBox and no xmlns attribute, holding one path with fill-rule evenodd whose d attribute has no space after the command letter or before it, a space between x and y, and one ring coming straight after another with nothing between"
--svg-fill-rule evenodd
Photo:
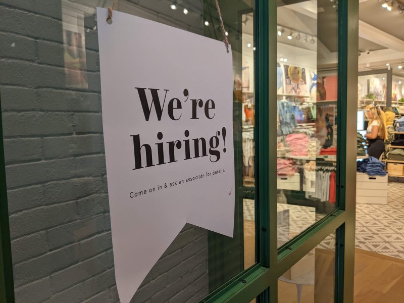
<instances>
[{"instance_id":1,"label":"small glass pane below the slanting green crossbar, showing wooden floor","mask_svg":"<svg viewBox=\"0 0 404 303\"><path fill-rule=\"evenodd\" d=\"M332 303L335 232L278 279L278 303Z\"/></svg>"}]
</instances>

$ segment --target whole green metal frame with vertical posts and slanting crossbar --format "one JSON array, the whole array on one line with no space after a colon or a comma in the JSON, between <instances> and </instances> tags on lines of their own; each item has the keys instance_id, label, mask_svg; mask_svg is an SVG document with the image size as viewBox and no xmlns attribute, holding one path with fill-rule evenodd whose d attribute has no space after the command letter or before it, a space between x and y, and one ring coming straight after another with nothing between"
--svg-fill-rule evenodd
<instances>
[{"instance_id":1,"label":"whole green metal frame with vertical posts and slanting crossbar","mask_svg":"<svg viewBox=\"0 0 404 303\"><path fill-rule=\"evenodd\" d=\"M293 264L336 231L335 302L351 303L354 288L356 111L358 81L357 1L338 2L338 209L277 247L276 205L276 12L277 1L256 0L256 222L258 264L225 283L204 302L277 301L277 283ZM1 122L1 117L0 117ZM0 123L0 135L3 136ZM3 140L0 143L0 302L14 302L13 267Z\"/></svg>"}]
</instances>

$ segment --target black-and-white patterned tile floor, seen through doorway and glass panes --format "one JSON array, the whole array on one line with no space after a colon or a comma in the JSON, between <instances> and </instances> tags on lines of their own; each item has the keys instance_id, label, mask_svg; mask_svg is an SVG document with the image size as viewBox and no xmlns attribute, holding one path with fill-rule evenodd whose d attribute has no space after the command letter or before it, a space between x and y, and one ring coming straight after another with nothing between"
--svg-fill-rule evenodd
<instances>
[{"instance_id":1,"label":"black-and-white patterned tile floor, seen through doorway and glass panes","mask_svg":"<svg viewBox=\"0 0 404 303\"><path fill-rule=\"evenodd\" d=\"M404 259L404 179L388 183L387 204L357 204L356 247L390 257ZM283 215L289 229L279 228L278 238L285 242L314 223L314 210L309 207L296 207L278 204L278 212L289 210ZM244 199L244 218L254 221L254 200ZM286 222L287 221L287 222ZM334 235L327 237L321 246L329 248L335 243ZM279 243L280 244L280 243Z\"/></svg>"}]
</instances>

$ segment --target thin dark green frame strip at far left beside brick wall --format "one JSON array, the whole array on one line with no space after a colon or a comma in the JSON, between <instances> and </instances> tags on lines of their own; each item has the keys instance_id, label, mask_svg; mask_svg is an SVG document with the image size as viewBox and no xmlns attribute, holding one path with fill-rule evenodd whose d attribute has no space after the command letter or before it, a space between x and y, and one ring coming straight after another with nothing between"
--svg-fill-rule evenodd
<instances>
[{"instance_id":1,"label":"thin dark green frame strip at far left beside brick wall","mask_svg":"<svg viewBox=\"0 0 404 303\"><path fill-rule=\"evenodd\" d=\"M1 113L0 99L0 302L11 303L14 302L14 278Z\"/></svg>"}]
</instances>

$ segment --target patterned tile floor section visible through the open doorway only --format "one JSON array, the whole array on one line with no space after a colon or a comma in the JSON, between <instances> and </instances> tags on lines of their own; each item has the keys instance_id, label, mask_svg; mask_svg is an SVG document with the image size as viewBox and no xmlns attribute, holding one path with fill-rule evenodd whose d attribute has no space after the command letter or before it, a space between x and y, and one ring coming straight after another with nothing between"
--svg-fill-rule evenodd
<instances>
[{"instance_id":1,"label":"patterned tile floor section visible through the open doorway only","mask_svg":"<svg viewBox=\"0 0 404 303\"><path fill-rule=\"evenodd\" d=\"M356 247L404 259L404 183L389 182L387 204L357 204Z\"/></svg>"}]
</instances>

